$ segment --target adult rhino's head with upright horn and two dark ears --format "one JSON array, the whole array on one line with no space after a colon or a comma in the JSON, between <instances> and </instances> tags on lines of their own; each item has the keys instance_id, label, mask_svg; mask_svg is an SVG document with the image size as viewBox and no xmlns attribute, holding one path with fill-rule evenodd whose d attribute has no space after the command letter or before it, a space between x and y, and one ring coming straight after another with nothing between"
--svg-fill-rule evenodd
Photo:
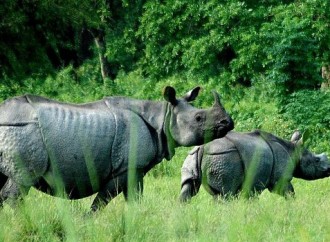
<instances>
[{"instance_id":1,"label":"adult rhino's head with upright horn and two dark ears","mask_svg":"<svg viewBox=\"0 0 330 242\"><path fill-rule=\"evenodd\" d=\"M234 128L233 120L215 91L212 108L199 109L189 104L199 91L200 87L196 87L178 99L174 88L168 86L164 89L164 98L168 102L164 129L172 150L178 146L201 145L224 137Z\"/></svg>"}]
</instances>

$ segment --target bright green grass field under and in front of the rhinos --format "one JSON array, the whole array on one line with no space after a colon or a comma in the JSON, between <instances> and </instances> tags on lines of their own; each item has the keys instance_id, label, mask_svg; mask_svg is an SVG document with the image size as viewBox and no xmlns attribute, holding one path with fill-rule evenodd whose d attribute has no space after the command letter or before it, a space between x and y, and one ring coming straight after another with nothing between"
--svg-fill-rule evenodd
<instances>
[{"instance_id":1,"label":"bright green grass field under and in front of the rhinos","mask_svg":"<svg viewBox=\"0 0 330 242\"><path fill-rule=\"evenodd\" d=\"M172 174L145 177L142 201L127 204L120 195L95 214L88 213L93 197L68 201L31 190L0 210L0 241L330 241L330 179L294 179L296 198L288 200L265 191L214 201L201 188L183 205L185 152L165 162Z\"/></svg>"}]
</instances>

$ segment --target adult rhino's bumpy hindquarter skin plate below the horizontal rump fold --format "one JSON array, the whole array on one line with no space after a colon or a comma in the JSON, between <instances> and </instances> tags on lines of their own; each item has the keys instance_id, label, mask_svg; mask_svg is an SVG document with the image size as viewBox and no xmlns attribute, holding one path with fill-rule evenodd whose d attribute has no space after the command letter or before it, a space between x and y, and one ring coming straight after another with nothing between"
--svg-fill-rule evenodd
<instances>
[{"instance_id":1,"label":"adult rhino's bumpy hindquarter skin plate below the horizontal rump fold","mask_svg":"<svg viewBox=\"0 0 330 242\"><path fill-rule=\"evenodd\" d=\"M47 169L47 151L38 123L0 125L0 171L32 186Z\"/></svg>"}]
</instances>

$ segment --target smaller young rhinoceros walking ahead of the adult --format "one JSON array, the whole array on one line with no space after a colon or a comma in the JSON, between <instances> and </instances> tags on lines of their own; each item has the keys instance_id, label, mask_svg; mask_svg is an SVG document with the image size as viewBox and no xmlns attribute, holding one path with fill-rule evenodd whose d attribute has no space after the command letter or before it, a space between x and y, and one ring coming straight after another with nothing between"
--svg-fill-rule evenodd
<instances>
[{"instance_id":1,"label":"smaller young rhinoceros walking ahead of the adult","mask_svg":"<svg viewBox=\"0 0 330 242\"><path fill-rule=\"evenodd\" d=\"M200 185L214 197L244 196L264 189L282 196L294 195L293 177L316 180L330 176L325 154L303 147L306 135L296 131L291 141L256 130L231 131L224 138L195 147L181 170L181 201L190 200Z\"/></svg>"}]
</instances>

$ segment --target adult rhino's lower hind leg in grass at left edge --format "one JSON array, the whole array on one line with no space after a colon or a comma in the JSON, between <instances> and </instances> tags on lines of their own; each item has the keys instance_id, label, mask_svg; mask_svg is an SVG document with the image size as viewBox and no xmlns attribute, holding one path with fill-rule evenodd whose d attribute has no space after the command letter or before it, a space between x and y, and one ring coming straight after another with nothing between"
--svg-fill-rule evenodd
<instances>
[{"instance_id":1,"label":"adult rhino's lower hind leg in grass at left edge","mask_svg":"<svg viewBox=\"0 0 330 242\"><path fill-rule=\"evenodd\" d=\"M11 178L8 178L0 191L0 205L2 205L7 199L12 200L13 202L22 199L28 194L29 190L30 187L18 185Z\"/></svg>"}]
</instances>

